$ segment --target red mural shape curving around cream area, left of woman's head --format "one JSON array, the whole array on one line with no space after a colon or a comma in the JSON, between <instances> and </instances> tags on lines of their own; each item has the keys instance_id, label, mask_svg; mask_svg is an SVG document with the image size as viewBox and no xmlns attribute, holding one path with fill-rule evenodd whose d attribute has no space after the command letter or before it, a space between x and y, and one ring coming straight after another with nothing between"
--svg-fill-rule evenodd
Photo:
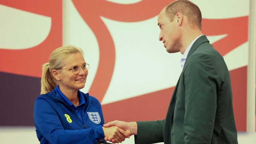
<instances>
[{"instance_id":1,"label":"red mural shape curving around cream area, left of woman's head","mask_svg":"<svg viewBox=\"0 0 256 144\"><path fill-rule=\"evenodd\" d=\"M55 48L62 46L62 0L17 0L15 2L2 0L0 4L51 17L49 35L41 44L22 50L0 48L0 71L17 75L41 77L42 65L48 62L50 53Z\"/></svg>"}]
</instances>

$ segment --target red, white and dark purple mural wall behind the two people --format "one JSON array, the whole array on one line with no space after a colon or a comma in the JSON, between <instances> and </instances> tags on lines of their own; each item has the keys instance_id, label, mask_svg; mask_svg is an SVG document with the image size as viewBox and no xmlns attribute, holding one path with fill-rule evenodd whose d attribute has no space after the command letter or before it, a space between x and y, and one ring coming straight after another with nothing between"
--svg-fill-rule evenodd
<instances>
[{"instance_id":1,"label":"red, white and dark purple mural wall behind the two people","mask_svg":"<svg viewBox=\"0 0 256 144\"><path fill-rule=\"evenodd\" d=\"M171 1L1 0L0 125L34 125L41 66L69 44L90 64L82 91L101 102L105 122L163 119L181 73L181 53L158 41L157 16ZM246 131L249 0L192 2L228 66L237 130Z\"/></svg>"}]
</instances>

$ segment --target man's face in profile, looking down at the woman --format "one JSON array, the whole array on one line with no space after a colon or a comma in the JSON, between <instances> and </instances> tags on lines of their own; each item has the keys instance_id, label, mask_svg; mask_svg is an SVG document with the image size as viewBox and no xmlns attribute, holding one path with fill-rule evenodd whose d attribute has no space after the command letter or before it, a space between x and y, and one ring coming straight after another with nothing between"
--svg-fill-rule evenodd
<instances>
[{"instance_id":1,"label":"man's face in profile, looking down at the woman","mask_svg":"<svg viewBox=\"0 0 256 144\"><path fill-rule=\"evenodd\" d=\"M174 20L171 22L165 13L165 9L163 9L158 16L157 21L160 28L159 41L163 42L166 51L169 53L179 52L182 34L176 17L174 17Z\"/></svg>"}]
</instances>

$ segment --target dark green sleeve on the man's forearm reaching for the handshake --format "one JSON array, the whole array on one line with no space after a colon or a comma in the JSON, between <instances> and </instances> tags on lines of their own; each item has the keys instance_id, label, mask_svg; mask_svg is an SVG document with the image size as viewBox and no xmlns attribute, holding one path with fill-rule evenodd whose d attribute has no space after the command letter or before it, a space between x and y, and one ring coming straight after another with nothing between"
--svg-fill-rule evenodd
<instances>
[{"instance_id":1,"label":"dark green sleeve on the man's forearm reaching for the handshake","mask_svg":"<svg viewBox=\"0 0 256 144\"><path fill-rule=\"evenodd\" d=\"M134 136L135 144L163 142L164 119L158 121L137 122L138 132Z\"/></svg>"}]
</instances>

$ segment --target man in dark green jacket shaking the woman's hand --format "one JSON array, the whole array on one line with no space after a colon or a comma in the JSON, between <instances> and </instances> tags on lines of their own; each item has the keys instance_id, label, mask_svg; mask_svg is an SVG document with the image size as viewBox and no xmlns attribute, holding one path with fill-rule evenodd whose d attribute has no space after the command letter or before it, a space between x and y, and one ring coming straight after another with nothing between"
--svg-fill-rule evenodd
<instances>
[{"instance_id":1,"label":"man in dark green jacket shaking the woman's hand","mask_svg":"<svg viewBox=\"0 0 256 144\"><path fill-rule=\"evenodd\" d=\"M222 56L202 35L201 21L201 11L187 0L167 5L158 16L159 40L166 51L183 54L183 70L166 118L113 121L105 127L115 125L130 131L136 144L238 143L229 71Z\"/></svg>"}]
</instances>

